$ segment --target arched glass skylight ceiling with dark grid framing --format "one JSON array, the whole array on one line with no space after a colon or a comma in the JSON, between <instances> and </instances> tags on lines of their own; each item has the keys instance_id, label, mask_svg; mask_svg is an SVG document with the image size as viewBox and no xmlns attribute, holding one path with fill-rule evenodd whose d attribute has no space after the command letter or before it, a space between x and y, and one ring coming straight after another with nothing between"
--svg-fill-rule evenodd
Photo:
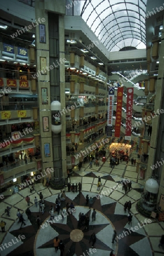
<instances>
[{"instance_id":1,"label":"arched glass skylight ceiling with dark grid framing","mask_svg":"<svg viewBox=\"0 0 164 256\"><path fill-rule=\"evenodd\" d=\"M82 18L110 51L146 48L147 0L86 0Z\"/></svg>"}]
</instances>

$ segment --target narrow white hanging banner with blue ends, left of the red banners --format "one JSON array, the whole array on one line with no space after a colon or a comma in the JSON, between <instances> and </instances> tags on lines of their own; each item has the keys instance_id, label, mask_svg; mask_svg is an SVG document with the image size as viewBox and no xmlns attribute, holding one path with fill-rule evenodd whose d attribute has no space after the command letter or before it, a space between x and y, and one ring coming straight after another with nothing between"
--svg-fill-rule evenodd
<instances>
[{"instance_id":1,"label":"narrow white hanging banner with blue ends, left of the red banners","mask_svg":"<svg viewBox=\"0 0 164 256\"><path fill-rule=\"evenodd\" d=\"M108 106L107 106L107 137L112 137L113 125L113 105L114 105L114 88L109 88Z\"/></svg>"}]
</instances>

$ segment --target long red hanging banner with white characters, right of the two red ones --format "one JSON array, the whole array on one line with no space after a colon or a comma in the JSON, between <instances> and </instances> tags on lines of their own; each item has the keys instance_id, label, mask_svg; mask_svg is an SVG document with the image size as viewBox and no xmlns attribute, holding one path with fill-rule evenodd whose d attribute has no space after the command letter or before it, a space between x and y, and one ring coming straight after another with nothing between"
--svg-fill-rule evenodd
<instances>
[{"instance_id":1,"label":"long red hanging banner with white characters, right of the two red ones","mask_svg":"<svg viewBox=\"0 0 164 256\"><path fill-rule=\"evenodd\" d=\"M133 88L127 88L127 114L125 139L131 139L133 110Z\"/></svg>"}]
</instances>

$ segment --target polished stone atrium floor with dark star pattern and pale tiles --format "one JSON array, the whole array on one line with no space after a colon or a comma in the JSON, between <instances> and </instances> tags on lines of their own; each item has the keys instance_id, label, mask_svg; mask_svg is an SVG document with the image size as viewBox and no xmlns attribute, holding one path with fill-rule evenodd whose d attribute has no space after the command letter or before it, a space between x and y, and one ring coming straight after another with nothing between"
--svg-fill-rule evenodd
<instances>
[{"instance_id":1,"label":"polished stone atrium floor with dark star pattern and pale tiles","mask_svg":"<svg viewBox=\"0 0 164 256\"><path fill-rule=\"evenodd\" d=\"M132 154L134 158L137 154ZM101 177L101 189L97 191L98 175ZM123 178L132 180L132 189L127 195L124 194L120 181ZM101 255L107 256L111 250L117 256L162 256L164 250L158 247L162 234L164 234L164 222L151 219L150 224L146 224L145 217L136 210L136 202L140 199L143 191L144 181L140 180L136 173L136 167L122 162L113 170L109 167L109 158L105 163L101 162L100 167L93 165L89 169L89 163L85 163L80 171L73 172L71 183L82 183L82 192L79 194L66 191L66 202L62 207L66 209L66 203L75 205L75 213L65 213L63 218L56 218L55 222L49 222L49 208L55 204L55 199L61 191L45 188L41 183L35 185L35 190L29 193L28 188L21 189L19 193L13 195L13 188L3 193L5 199L1 200L1 220L6 222L5 233L0 232L0 254L5 255L60 255L59 250L55 253L53 240L56 236L63 241L65 248L63 255ZM45 213L38 212L39 208L33 204L34 197L42 192L45 202ZM93 197L93 205L89 208L86 205L85 196ZM25 196L31 198L31 216L27 217L25 210L27 203ZM124 213L123 205L126 201L132 202L132 226L128 225L127 212ZM10 217L6 216L5 208L12 207ZM20 229L20 223L16 220L17 209L23 213L25 226ZM92 222L93 208L96 209L96 221ZM90 218L89 229L78 225L79 213L87 214ZM41 218L41 226L38 228L36 217ZM55 213L55 217L57 213ZM134 228L133 231L131 228ZM117 238L112 243L114 229ZM89 243L92 233L96 234L96 243L93 247ZM19 235L24 235L24 239L16 240ZM15 238L16 237L16 238ZM5 246L10 243L10 246ZM3 246L2 246L3 245ZM90 253L88 251L90 250Z\"/></svg>"}]
</instances>

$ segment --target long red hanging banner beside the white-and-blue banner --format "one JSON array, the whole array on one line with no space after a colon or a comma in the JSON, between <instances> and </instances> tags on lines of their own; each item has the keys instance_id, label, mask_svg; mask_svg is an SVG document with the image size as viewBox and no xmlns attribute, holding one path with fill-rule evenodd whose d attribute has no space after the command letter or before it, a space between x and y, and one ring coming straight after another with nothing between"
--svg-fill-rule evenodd
<instances>
[{"instance_id":1,"label":"long red hanging banner beside the white-and-blue banner","mask_svg":"<svg viewBox=\"0 0 164 256\"><path fill-rule=\"evenodd\" d=\"M118 87L117 103L116 103L116 118L115 118L115 137L120 137L120 127L122 118L122 101L123 101L123 87Z\"/></svg>"}]
</instances>

